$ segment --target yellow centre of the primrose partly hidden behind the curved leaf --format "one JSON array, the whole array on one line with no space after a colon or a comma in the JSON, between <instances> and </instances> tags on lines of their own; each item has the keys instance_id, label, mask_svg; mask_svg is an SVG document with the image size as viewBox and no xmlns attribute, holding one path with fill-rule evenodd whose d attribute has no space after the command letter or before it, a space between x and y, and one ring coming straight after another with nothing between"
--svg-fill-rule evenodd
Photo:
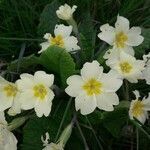
<instances>
[{"instance_id":1,"label":"yellow centre of the primrose partly hidden behind the curved leaf","mask_svg":"<svg viewBox=\"0 0 150 150\"><path fill-rule=\"evenodd\" d=\"M57 35L56 37L51 37L50 41L51 41L51 45L56 45L62 48L64 47L64 40L61 35Z\"/></svg>"}]
</instances>

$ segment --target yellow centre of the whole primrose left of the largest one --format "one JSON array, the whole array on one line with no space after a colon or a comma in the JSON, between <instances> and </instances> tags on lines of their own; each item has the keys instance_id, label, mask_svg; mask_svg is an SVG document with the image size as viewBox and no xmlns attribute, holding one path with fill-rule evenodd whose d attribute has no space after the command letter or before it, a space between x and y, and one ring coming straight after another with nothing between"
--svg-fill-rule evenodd
<instances>
[{"instance_id":1,"label":"yellow centre of the whole primrose left of the largest one","mask_svg":"<svg viewBox=\"0 0 150 150\"><path fill-rule=\"evenodd\" d=\"M40 100L44 100L47 95L47 90L43 84L38 84L33 87L34 96L39 98Z\"/></svg>"}]
</instances>

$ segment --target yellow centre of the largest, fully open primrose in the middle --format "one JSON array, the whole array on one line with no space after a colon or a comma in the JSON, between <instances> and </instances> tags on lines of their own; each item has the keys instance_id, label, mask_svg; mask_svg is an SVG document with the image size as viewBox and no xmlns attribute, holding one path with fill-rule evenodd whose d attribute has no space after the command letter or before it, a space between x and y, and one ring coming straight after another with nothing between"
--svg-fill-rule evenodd
<instances>
[{"instance_id":1,"label":"yellow centre of the largest, fully open primrose in the middle","mask_svg":"<svg viewBox=\"0 0 150 150\"><path fill-rule=\"evenodd\" d=\"M102 92L101 90L102 83L97 81L96 79L88 80L84 85L83 89L86 91L87 95L98 95Z\"/></svg>"}]
</instances>

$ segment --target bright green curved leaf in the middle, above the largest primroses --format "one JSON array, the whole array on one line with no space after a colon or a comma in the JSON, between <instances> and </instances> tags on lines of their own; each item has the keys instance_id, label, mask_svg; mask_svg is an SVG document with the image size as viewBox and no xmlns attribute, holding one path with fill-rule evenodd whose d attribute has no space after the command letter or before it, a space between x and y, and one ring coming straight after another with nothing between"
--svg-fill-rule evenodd
<instances>
[{"instance_id":1,"label":"bright green curved leaf in the middle, above the largest primroses","mask_svg":"<svg viewBox=\"0 0 150 150\"><path fill-rule=\"evenodd\" d=\"M40 56L41 64L49 71L56 73L62 86L66 86L66 79L75 73L75 63L71 55L66 50L51 46Z\"/></svg>"}]
</instances>

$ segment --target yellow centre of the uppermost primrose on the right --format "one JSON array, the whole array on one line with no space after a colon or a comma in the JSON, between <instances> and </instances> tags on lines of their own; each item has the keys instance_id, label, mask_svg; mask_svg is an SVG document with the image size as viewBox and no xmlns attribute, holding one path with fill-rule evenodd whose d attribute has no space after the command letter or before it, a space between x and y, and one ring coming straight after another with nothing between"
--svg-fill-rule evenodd
<instances>
[{"instance_id":1,"label":"yellow centre of the uppermost primrose on the right","mask_svg":"<svg viewBox=\"0 0 150 150\"><path fill-rule=\"evenodd\" d=\"M116 35L116 45L118 48L124 48L125 42L128 40L128 37L123 33L119 32Z\"/></svg>"}]
</instances>

